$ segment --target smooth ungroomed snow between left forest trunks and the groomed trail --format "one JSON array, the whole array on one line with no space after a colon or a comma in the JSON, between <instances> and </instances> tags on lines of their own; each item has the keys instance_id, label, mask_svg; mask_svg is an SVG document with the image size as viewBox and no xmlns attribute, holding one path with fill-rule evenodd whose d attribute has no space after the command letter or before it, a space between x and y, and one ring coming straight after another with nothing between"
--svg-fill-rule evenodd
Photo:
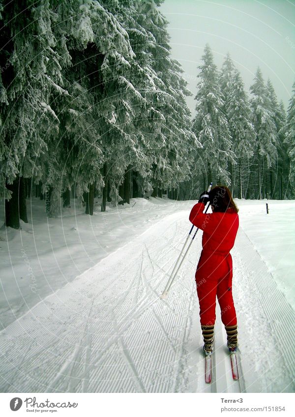
<instances>
[{"instance_id":1,"label":"smooth ungroomed snow between left forest trunks and the groomed trail","mask_svg":"<svg viewBox=\"0 0 295 417\"><path fill-rule=\"evenodd\" d=\"M94 266L144 232L148 225L158 222L163 215L163 205L167 215L183 204L138 198L131 199L130 205L118 208L107 205L106 212L101 213L101 199L96 198L95 202L93 217L85 215L85 208L78 203L74 205L71 200L72 208L64 209L59 219L51 219L46 217L44 200L33 197L28 204L29 224L22 222L21 231L10 227L0 230L1 285L4 290L0 293L2 326L7 326L40 299L72 281L89 264ZM1 220L4 221L3 216ZM37 277L37 287L33 289L29 286L34 283L29 268Z\"/></svg>"}]
</instances>

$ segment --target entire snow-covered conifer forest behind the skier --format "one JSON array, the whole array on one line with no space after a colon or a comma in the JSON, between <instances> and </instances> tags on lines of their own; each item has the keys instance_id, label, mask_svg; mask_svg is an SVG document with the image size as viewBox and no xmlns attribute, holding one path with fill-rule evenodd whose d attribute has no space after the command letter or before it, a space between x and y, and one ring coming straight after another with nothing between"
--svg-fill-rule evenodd
<instances>
[{"instance_id":1,"label":"entire snow-covered conifer forest behind the skier","mask_svg":"<svg viewBox=\"0 0 295 417\"><path fill-rule=\"evenodd\" d=\"M0 193L5 225L75 198L197 199L210 181L245 199L295 198L289 107L257 68L247 91L209 44L192 93L171 56L162 0L0 0Z\"/></svg>"}]
</instances>

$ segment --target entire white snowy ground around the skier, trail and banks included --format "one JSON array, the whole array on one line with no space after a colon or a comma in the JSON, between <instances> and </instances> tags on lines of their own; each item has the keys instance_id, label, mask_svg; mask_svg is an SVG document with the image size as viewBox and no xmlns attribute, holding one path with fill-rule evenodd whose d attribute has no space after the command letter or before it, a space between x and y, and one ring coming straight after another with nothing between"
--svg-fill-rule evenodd
<instances>
[{"instance_id":1,"label":"entire white snowy ground around the skier, trail and banks included","mask_svg":"<svg viewBox=\"0 0 295 417\"><path fill-rule=\"evenodd\" d=\"M159 298L194 202L134 199L47 222L33 199L33 222L0 231L0 391L294 392L295 201L268 201L269 215L266 201L236 202L239 382L219 316L213 380L204 381L193 279L201 233L169 297Z\"/></svg>"}]
</instances>

